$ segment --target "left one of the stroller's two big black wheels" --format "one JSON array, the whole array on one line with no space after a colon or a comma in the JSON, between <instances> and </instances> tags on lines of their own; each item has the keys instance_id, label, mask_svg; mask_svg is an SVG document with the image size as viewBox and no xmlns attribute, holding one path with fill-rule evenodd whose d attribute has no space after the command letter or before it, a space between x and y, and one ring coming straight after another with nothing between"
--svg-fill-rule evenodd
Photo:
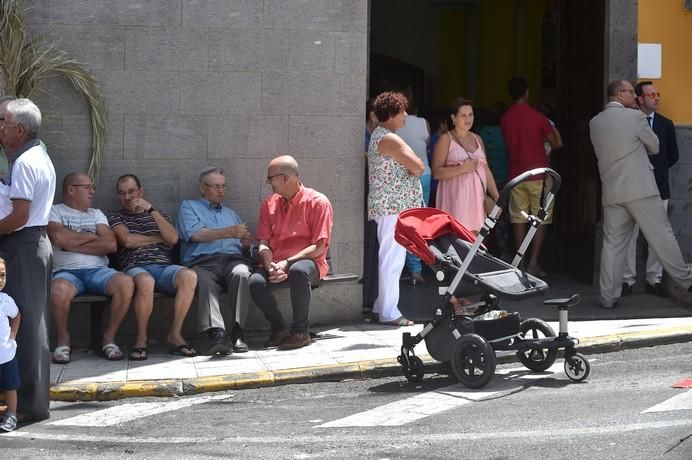
<instances>
[{"instance_id":1,"label":"left one of the stroller's two big black wheels","mask_svg":"<svg viewBox=\"0 0 692 460\"><path fill-rule=\"evenodd\" d=\"M481 388L495 373L495 351L477 334L466 334L454 344L452 372L469 388Z\"/></svg>"}]
</instances>

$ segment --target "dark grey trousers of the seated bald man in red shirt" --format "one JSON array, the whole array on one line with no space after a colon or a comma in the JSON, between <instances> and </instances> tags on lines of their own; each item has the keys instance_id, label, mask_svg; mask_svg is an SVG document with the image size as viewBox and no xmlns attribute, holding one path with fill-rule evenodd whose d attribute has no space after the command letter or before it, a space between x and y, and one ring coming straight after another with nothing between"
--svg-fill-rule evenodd
<instances>
[{"instance_id":1,"label":"dark grey trousers of the seated bald man in red shirt","mask_svg":"<svg viewBox=\"0 0 692 460\"><path fill-rule=\"evenodd\" d=\"M288 269L288 280L281 283L267 281L269 275L264 268L260 268L250 277L250 293L252 300L267 321L272 330L286 329L284 318L276 305L276 298L272 294L274 289L291 290L291 306L293 307L293 323L291 332L304 333L310 325L310 299L312 298L312 286L320 280L320 272L312 260L299 260Z\"/></svg>"}]
</instances>

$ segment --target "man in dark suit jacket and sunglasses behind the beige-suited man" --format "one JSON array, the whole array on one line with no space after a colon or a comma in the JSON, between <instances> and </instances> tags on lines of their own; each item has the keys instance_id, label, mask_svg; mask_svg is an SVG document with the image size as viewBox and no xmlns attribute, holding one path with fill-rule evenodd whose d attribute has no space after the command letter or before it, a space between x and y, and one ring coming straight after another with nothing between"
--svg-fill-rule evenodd
<instances>
[{"instance_id":1,"label":"man in dark suit jacket and sunglasses behind the beige-suited man","mask_svg":"<svg viewBox=\"0 0 692 460\"><path fill-rule=\"evenodd\" d=\"M668 208L668 198L670 198L670 185L668 184L668 169L677 163L680 157L678 153L678 143L675 139L675 126L673 122L656 112L658 103L661 100L660 93L650 81L642 81L634 87L637 95L639 110L646 115L649 126L658 136L658 155L651 155L649 161L654 167L654 177L656 186L663 200L663 206ZM632 286L637 276L637 237L639 227L634 226L634 232L630 239L625 260L625 273L622 279L622 295L632 292ZM646 292L666 297L668 293L661 283L663 276L663 266L658 261L653 251L649 251L646 259Z\"/></svg>"}]
</instances>

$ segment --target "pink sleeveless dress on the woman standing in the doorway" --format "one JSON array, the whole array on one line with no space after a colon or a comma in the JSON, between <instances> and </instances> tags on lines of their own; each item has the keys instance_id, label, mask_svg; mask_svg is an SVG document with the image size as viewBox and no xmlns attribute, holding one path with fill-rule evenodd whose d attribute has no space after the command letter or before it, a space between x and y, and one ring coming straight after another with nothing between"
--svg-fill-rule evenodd
<instances>
[{"instance_id":1,"label":"pink sleeveless dress on the woman standing in the doorway","mask_svg":"<svg viewBox=\"0 0 692 460\"><path fill-rule=\"evenodd\" d=\"M447 134L449 136L449 133ZM478 168L451 179L440 180L437 184L437 199L435 205L438 209L447 211L454 216L464 227L478 231L485 220L483 201L485 198L486 177L485 167L487 159L478 136L472 134L476 140L476 151L467 152L450 136L449 152L445 166L454 166L463 163L470 158L478 158Z\"/></svg>"}]
</instances>

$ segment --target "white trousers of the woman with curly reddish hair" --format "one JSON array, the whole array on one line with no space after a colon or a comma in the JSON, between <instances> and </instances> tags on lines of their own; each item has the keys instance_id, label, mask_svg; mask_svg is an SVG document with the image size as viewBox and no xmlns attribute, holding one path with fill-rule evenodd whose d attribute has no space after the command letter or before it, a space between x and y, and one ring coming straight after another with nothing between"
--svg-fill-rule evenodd
<instances>
[{"instance_id":1,"label":"white trousers of the woman with curly reddish hair","mask_svg":"<svg viewBox=\"0 0 692 460\"><path fill-rule=\"evenodd\" d=\"M372 307L379 315L380 322L394 321L401 317L399 311L399 278L406 262L406 249L394 239L394 227L398 214L378 217L377 239L380 242L378 253L378 293Z\"/></svg>"}]
</instances>

